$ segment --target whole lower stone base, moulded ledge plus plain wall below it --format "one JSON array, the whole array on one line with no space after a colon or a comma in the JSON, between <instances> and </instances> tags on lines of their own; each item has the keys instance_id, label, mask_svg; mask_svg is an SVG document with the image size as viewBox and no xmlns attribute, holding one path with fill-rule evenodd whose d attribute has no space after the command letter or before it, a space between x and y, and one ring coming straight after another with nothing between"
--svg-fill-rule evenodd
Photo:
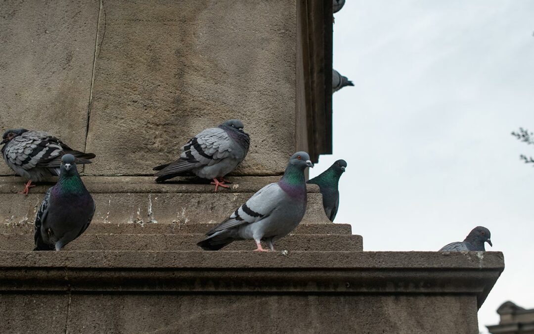
<instances>
[{"instance_id":1,"label":"whole lower stone base, moulded ledge plus plain wall below it","mask_svg":"<svg viewBox=\"0 0 534 334\"><path fill-rule=\"evenodd\" d=\"M500 252L0 252L0 332L477 333Z\"/></svg>"}]
</instances>

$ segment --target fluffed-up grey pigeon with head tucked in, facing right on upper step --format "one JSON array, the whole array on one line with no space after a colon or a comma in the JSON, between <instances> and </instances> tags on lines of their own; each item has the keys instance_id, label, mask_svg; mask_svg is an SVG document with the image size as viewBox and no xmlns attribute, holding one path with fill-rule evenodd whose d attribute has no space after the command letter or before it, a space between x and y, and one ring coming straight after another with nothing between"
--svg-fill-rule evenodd
<instances>
[{"instance_id":1,"label":"fluffed-up grey pigeon with head tucked in, facing right on upper step","mask_svg":"<svg viewBox=\"0 0 534 334\"><path fill-rule=\"evenodd\" d=\"M182 147L178 160L154 167L159 170L154 175L158 176L156 182L192 172L213 180L215 191L218 187L230 188L223 177L245 159L250 145L250 137L243 128L240 120L227 120L216 128L203 130Z\"/></svg>"}]
</instances>

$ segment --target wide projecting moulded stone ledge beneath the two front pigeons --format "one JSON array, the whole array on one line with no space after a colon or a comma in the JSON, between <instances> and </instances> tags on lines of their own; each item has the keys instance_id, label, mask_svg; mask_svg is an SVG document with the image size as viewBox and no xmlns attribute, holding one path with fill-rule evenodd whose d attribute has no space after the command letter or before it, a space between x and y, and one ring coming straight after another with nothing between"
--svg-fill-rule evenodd
<instances>
[{"instance_id":1,"label":"wide projecting moulded stone ledge beneath the two front pigeons","mask_svg":"<svg viewBox=\"0 0 534 334\"><path fill-rule=\"evenodd\" d=\"M500 252L0 252L0 291L476 294Z\"/></svg>"}]
</instances>

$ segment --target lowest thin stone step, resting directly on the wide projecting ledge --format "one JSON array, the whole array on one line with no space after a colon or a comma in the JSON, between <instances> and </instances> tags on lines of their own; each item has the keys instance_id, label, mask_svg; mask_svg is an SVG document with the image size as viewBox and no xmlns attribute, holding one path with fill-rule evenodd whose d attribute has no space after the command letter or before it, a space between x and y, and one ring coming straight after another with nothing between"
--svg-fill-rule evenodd
<instances>
[{"instance_id":1,"label":"lowest thin stone step, resting directly on the wide projecting ledge","mask_svg":"<svg viewBox=\"0 0 534 334\"><path fill-rule=\"evenodd\" d=\"M64 251L198 251L203 234L83 234ZM264 245L266 247L266 245ZM275 249L292 251L362 251L358 235L291 234L276 242ZM0 251L27 251L34 247L30 234L0 235ZM254 250L252 240L234 242L223 250Z\"/></svg>"}]
</instances>

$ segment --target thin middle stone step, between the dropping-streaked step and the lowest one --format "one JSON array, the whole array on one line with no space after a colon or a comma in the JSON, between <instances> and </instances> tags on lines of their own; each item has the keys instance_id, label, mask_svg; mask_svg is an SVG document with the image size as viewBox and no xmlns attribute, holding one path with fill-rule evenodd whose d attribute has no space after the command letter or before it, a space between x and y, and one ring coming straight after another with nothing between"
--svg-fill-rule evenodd
<instances>
[{"instance_id":1,"label":"thin middle stone step, between the dropping-streaked step and the lowest one","mask_svg":"<svg viewBox=\"0 0 534 334\"><path fill-rule=\"evenodd\" d=\"M216 226L216 223L119 223L107 224L92 222L84 234L203 234ZM33 234L33 222L0 224L0 234ZM300 223L293 234L351 234L350 224Z\"/></svg>"}]
</instances>

